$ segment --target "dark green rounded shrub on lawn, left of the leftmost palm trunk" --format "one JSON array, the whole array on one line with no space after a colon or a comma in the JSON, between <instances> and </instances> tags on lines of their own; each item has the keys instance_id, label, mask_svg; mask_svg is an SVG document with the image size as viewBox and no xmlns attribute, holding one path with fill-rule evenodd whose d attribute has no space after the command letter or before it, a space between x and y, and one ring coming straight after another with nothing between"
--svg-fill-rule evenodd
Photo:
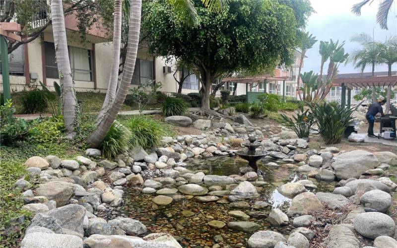
<instances>
[{"instance_id":1,"label":"dark green rounded shrub on lawn, left of the leftmost palm trunk","mask_svg":"<svg viewBox=\"0 0 397 248\"><path fill-rule=\"evenodd\" d=\"M48 106L46 96L41 90L27 91L22 99L25 114L43 113Z\"/></svg>"}]
</instances>

